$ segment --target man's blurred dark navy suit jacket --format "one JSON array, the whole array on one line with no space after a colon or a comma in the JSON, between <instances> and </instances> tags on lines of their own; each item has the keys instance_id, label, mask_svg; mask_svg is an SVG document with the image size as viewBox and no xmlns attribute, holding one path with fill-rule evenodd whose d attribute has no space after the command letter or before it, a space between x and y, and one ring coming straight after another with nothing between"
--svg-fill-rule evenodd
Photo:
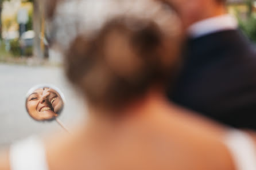
<instances>
[{"instance_id":1,"label":"man's blurred dark navy suit jacket","mask_svg":"<svg viewBox=\"0 0 256 170\"><path fill-rule=\"evenodd\" d=\"M219 122L256 129L256 51L239 30L188 39L170 100Z\"/></svg>"}]
</instances>

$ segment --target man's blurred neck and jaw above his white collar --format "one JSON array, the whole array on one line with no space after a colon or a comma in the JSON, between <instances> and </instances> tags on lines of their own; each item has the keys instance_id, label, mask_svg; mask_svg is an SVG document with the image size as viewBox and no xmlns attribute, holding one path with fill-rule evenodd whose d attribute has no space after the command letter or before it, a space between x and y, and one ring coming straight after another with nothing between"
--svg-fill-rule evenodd
<instances>
[{"instance_id":1,"label":"man's blurred neck and jaw above his white collar","mask_svg":"<svg viewBox=\"0 0 256 170\"><path fill-rule=\"evenodd\" d=\"M184 29L193 23L226 14L223 2L217 0L157 0L170 5L179 15Z\"/></svg>"}]
</instances>

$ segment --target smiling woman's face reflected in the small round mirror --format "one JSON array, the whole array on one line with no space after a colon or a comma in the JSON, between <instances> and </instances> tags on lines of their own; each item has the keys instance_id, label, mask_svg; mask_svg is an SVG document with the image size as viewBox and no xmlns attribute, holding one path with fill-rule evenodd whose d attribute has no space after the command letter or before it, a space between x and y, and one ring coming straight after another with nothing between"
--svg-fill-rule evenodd
<instances>
[{"instance_id":1,"label":"smiling woman's face reflected in the small round mirror","mask_svg":"<svg viewBox=\"0 0 256 170\"><path fill-rule=\"evenodd\" d=\"M51 103L43 96L43 92L44 89L42 88L35 90L32 94L30 94L26 101L26 108L30 116L36 120L49 120L57 116L57 114L53 112ZM47 107L51 109L44 111L41 110L42 108Z\"/></svg>"}]
</instances>

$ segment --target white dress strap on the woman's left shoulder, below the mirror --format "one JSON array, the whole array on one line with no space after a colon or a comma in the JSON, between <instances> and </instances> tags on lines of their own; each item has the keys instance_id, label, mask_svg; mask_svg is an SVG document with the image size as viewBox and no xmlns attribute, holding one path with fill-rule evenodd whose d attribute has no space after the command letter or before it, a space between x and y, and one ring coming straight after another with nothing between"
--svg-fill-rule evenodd
<instances>
[{"instance_id":1,"label":"white dress strap on the woman's left shoulder, below the mirror","mask_svg":"<svg viewBox=\"0 0 256 170\"><path fill-rule=\"evenodd\" d=\"M48 170L42 141L30 137L11 145L10 167L11 170Z\"/></svg>"}]
</instances>

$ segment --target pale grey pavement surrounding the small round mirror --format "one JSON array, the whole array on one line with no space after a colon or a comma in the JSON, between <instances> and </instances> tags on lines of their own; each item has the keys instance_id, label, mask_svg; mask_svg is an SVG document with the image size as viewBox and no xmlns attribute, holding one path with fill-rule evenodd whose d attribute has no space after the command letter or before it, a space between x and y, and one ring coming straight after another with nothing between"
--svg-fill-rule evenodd
<instances>
[{"instance_id":1,"label":"pale grey pavement surrounding the small round mirror","mask_svg":"<svg viewBox=\"0 0 256 170\"><path fill-rule=\"evenodd\" d=\"M64 93L67 102L60 120L67 126L86 117L61 68L0 64L0 147L33 134L63 131L56 122L37 122L26 112L26 92L37 84L53 84Z\"/></svg>"}]
</instances>

